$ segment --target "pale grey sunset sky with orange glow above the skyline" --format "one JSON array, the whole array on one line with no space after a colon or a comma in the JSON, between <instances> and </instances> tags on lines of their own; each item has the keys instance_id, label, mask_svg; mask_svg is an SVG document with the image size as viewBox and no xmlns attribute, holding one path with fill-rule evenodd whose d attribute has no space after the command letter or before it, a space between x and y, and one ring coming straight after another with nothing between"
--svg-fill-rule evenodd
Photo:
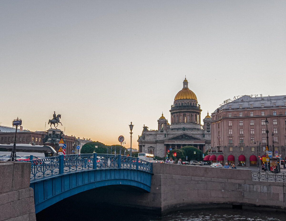
<instances>
[{"instance_id":1,"label":"pale grey sunset sky with orange glow above the skyline","mask_svg":"<svg viewBox=\"0 0 286 221\"><path fill-rule=\"evenodd\" d=\"M285 95L286 1L13 1L0 7L0 124L138 148L189 82L202 118ZM202 120L201 120L202 122Z\"/></svg>"}]
</instances>

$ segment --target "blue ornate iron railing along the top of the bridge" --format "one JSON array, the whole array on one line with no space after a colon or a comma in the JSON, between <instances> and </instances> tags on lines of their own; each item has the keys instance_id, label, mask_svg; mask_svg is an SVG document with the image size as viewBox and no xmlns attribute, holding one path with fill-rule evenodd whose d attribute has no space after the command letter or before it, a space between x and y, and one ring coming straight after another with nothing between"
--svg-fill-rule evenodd
<instances>
[{"instance_id":1,"label":"blue ornate iron railing along the top of the bridge","mask_svg":"<svg viewBox=\"0 0 286 221\"><path fill-rule=\"evenodd\" d=\"M33 156L30 156L33 159ZM96 163L95 160L96 159ZM47 177L59 176L84 170L125 168L152 173L152 163L138 157L122 156L120 154L72 154L47 157L31 162L30 182L37 182Z\"/></svg>"}]
</instances>

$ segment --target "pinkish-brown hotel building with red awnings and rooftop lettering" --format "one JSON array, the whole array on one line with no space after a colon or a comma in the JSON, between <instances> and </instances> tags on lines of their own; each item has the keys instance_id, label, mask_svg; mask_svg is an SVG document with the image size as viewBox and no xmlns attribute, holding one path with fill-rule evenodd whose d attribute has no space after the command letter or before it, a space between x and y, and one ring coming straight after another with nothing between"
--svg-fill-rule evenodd
<instances>
[{"instance_id":1,"label":"pinkish-brown hotel building with red awnings and rooftop lettering","mask_svg":"<svg viewBox=\"0 0 286 221\"><path fill-rule=\"evenodd\" d=\"M269 151L285 158L286 95L229 99L211 114L210 123L209 160L256 166L258 156L265 155L267 130Z\"/></svg>"}]
</instances>

